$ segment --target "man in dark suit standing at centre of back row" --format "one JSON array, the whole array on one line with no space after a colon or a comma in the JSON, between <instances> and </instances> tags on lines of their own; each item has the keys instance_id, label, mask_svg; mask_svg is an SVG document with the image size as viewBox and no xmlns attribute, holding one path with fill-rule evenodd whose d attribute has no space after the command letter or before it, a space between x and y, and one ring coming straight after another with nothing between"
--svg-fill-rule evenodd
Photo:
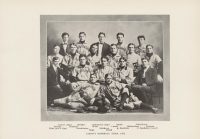
<instances>
[{"instance_id":1,"label":"man in dark suit standing at centre of back row","mask_svg":"<svg viewBox=\"0 0 200 139\"><path fill-rule=\"evenodd\" d=\"M110 45L105 43L106 34L104 32L100 32L98 35L98 38L99 38L99 42L96 42L92 45L98 46L98 55L100 57L108 55L110 51Z\"/></svg>"}]
</instances>

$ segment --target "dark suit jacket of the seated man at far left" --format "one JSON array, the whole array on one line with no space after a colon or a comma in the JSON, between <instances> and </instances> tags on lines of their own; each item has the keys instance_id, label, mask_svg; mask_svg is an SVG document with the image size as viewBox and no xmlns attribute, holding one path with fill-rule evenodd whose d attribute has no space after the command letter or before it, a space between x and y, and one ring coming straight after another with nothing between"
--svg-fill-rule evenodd
<instances>
[{"instance_id":1,"label":"dark suit jacket of the seated man at far left","mask_svg":"<svg viewBox=\"0 0 200 139\"><path fill-rule=\"evenodd\" d=\"M60 84L60 75L62 74L62 70L58 68L58 72L56 73L53 66L47 68L47 86L56 86Z\"/></svg>"}]
</instances>

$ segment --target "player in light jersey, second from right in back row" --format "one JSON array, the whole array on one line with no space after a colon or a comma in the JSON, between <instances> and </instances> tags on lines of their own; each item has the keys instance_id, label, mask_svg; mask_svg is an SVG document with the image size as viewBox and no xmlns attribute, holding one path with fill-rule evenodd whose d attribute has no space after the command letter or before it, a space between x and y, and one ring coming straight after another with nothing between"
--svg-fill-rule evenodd
<instances>
[{"instance_id":1,"label":"player in light jersey, second from right in back row","mask_svg":"<svg viewBox=\"0 0 200 139\"><path fill-rule=\"evenodd\" d=\"M121 56L126 56L127 53L127 48L126 48L126 44L124 44L124 33L119 32L116 35L117 37L117 48L119 50L119 54Z\"/></svg>"}]
</instances>

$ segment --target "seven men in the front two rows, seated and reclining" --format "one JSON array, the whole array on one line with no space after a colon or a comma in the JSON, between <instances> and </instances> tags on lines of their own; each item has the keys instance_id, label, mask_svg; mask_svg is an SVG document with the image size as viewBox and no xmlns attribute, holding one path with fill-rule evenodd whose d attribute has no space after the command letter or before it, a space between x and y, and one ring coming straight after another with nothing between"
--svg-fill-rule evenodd
<instances>
[{"instance_id":1,"label":"seven men in the front two rows, seated and reclining","mask_svg":"<svg viewBox=\"0 0 200 139\"><path fill-rule=\"evenodd\" d=\"M85 55L78 58L78 65L72 69L63 64L60 67L59 57L52 58L47 70L48 105L79 112L109 112L115 108L119 111L145 108L157 112L151 96L155 91L157 71L150 67L147 58L141 60L141 69L135 79L133 70L127 66L127 58L120 57L116 68L108 66L108 57L102 57L100 65L88 65Z\"/></svg>"}]
</instances>

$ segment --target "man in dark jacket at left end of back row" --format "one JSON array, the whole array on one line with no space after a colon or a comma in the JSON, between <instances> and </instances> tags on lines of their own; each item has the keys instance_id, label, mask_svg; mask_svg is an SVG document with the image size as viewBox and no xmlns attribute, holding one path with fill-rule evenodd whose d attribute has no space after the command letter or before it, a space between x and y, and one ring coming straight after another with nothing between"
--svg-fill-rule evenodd
<instances>
[{"instance_id":1,"label":"man in dark jacket at left end of back row","mask_svg":"<svg viewBox=\"0 0 200 139\"><path fill-rule=\"evenodd\" d=\"M69 41L69 34L67 32L63 32L62 35L62 43L60 44L60 54L65 56L66 54L70 53L70 45Z\"/></svg>"}]
</instances>

